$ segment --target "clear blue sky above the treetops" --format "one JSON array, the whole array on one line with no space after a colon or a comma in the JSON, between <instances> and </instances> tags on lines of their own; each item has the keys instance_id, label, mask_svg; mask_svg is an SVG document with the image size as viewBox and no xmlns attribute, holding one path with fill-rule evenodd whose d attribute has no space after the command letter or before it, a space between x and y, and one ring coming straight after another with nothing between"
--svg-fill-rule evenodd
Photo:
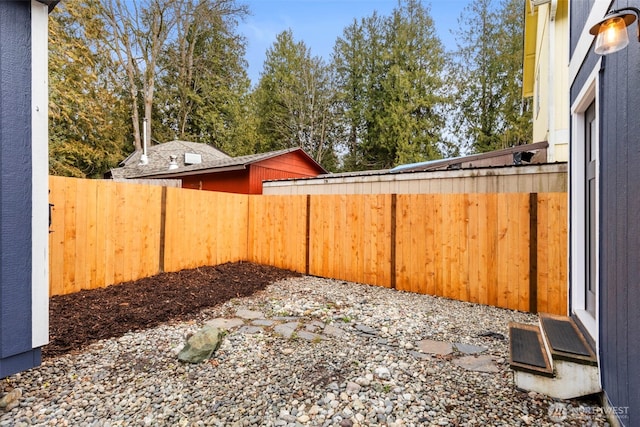
<instances>
[{"instance_id":1,"label":"clear blue sky above the treetops","mask_svg":"<svg viewBox=\"0 0 640 427\"><path fill-rule=\"evenodd\" d=\"M438 36L447 49L455 47L451 30L470 0L424 0L431 5L431 16ZM297 41L311 49L313 56L329 60L333 46L354 18L360 20L373 11L388 16L397 0L243 0L252 13L239 26L247 39L246 59L249 77L256 84L262 71L265 52L276 35L291 28Z\"/></svg>"}]
</instances>

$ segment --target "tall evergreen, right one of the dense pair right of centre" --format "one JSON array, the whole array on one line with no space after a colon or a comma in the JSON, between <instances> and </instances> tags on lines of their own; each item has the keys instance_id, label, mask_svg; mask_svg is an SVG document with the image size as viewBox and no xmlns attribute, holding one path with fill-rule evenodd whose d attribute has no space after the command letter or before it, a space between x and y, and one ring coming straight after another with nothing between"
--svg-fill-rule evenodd
<instances>
[{"instance_id":1,"label":"tall evergreen, right one of the dense pair right of centre","mask_svg":"<svg viewBox=\"0 0 640 427\"><path fill-rule=\"evenodd\" d=\"M434 28L428 10L417 0L408 0L387 21L385 117L379 141L389 147L392 163L385 167L441 156L444 48Z\"/></svg>"}]
</instances>

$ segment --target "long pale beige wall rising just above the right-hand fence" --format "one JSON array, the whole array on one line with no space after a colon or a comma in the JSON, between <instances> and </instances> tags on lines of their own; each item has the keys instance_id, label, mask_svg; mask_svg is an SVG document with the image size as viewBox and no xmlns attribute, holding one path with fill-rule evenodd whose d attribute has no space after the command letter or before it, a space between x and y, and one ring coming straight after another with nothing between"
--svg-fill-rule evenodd
<instances>
[{"instance_id":1,"label":"long pale beige wall rising just above the right-hand fence","mask_svg":"<svg viewBox=\"0 0 640 427\"><path fill-rule=\"evenodd\" d=\"M448 194L567 191L567 164L414 172L264 183L264 194Z\"/></svg>"}]
</instances>

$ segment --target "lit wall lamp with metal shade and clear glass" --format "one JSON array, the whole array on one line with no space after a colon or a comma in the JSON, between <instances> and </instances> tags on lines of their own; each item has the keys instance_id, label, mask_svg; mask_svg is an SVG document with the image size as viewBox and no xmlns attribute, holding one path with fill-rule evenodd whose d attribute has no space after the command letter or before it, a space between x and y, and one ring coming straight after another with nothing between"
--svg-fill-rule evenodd
<instances>
[{"instance_id":1,"label":"lit wall lamp with metal shade and clear glass","mask_svg":"<svg viewBox=\"0 0 640 427\"><path fill-rule=\"evenodd\" d=\"M589 33L596 36L595 52L598 55L608 55L624 49L629 44L627 27L633 24L639 16L640 9L635 7L625 7L607 13L602 21L589 30ZM636 35L640 42L640 21Z\"/></svg>"}]
</instances>

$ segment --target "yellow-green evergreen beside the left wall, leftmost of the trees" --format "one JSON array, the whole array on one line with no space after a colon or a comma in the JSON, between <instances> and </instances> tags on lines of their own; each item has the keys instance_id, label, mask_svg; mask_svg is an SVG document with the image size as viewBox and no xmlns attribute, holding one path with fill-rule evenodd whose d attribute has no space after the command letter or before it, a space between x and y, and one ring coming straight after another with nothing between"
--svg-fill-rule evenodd
<instances>
[{"instance_id":1,"label":"yellow-green evergreen beside the left wall, leftmost of the trees","mask_svg":"<svg viewBox=\"0 0 640 427\"><path fill-rule=\"evenodd\" d=\"M49 24L49 173L101 177L130 150L128 114L100 37L100 4L65 0Z\"/></svg>"}]
</instances>

